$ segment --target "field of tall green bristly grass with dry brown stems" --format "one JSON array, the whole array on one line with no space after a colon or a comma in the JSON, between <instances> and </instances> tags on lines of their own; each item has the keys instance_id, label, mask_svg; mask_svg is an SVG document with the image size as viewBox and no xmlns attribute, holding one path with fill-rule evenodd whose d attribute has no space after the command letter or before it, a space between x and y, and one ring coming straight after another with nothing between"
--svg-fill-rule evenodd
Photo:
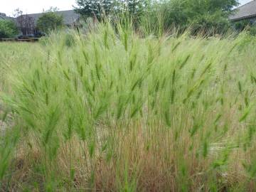
<instances>
[{"instance_id":1,"label":"field of tall green bristly grass with dry brown stems","mask_svg":"<svg viewBox=\"0 0 256 192\"><path fill-rule=\"evenodd\" d=\"M0 191L255 191L255 45L107 25L0 43Z\"/></svg>"}]
</instances>

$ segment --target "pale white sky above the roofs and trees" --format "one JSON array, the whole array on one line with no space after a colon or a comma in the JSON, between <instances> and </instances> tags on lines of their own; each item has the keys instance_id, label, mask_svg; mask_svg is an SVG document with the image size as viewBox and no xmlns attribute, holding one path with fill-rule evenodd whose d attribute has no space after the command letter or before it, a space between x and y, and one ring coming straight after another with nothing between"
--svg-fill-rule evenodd
<instances>
[{"instance_id":1,"label":"pale white sky above the roofs and trees","mask_svg":"<svg viewBox=\"0 0 256 192\"><path fill-rule=\"evenodd\" d=\"M251 0L240 0L240 4L246 4ZM75 0L0 0L0 13L13 16L14 10L19 8L23 14L36 14L47 10L50 6L58 7L60 11L73 9Z\"/></svg>"}]
</instances>

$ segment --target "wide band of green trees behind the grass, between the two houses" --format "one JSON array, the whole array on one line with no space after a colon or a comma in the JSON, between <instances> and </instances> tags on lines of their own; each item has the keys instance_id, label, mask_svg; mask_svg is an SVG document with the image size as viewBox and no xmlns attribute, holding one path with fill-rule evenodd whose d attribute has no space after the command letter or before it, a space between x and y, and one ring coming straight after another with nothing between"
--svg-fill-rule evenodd
<instances>
[{"instance_id":1,"label":"wide band of green trees behind the grass, between the two houses","mask_svg":"<svg viewBox=\"0 0 256 192\"><path fill-rule=\"evenodd\" d=\"M228 16L233 7L238 6L238 0L77 0L76 3L76 11L85 18L102 21L102 18L114 19L122 13L143 30L149 31L150 26L151 31L163 33L176 26L181 32L190 28L193 33L208 35L230 30Z\"/></svg>"}]
</instances>

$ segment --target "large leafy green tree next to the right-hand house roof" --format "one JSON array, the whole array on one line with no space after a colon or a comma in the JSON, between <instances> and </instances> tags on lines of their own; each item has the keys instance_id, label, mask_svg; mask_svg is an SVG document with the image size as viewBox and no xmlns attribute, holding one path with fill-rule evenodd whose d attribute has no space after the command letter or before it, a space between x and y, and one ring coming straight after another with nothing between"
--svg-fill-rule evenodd
<instances>
[{"instance_id":1,"label":"large leafy green tree next to the right-hand house roof","mask_svg":"<svg viewBox=\"0 0 256 192\"><path fill-rule=\"evenodd\" d=\"M155 6L165 14L163 25L166 28L175 25L181 30L191 28L194 33L223 33L230 27L228 16L233 7L238 6L238 0L163 0L156 1Z\"/></svg>"}]
</instances>

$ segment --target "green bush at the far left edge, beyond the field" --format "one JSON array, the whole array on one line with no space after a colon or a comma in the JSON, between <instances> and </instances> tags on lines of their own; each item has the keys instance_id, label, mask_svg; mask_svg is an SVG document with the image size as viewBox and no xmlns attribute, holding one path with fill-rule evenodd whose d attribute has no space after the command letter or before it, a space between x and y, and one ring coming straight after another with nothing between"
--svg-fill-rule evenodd
<instances>
[{"instance_id":1,"label":"green bush at the far left edge, beyond the field","mask_svg":"<svg viewBox=\"0 0 256 192\"><path fill-rule=\"evenodd\" d=\"M18 34L14 21L0 19L0 38L13 38Z\"/></svg>"}]
</instances>

